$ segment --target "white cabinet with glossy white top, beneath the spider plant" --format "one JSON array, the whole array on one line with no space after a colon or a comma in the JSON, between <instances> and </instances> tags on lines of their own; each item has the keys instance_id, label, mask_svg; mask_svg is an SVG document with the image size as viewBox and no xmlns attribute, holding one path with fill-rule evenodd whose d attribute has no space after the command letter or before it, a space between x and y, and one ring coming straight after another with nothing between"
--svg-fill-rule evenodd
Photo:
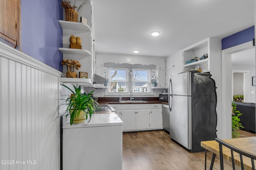
<instances>
[{"instance_id":1,"label":"white cabinet with glossy white top, beneath the spider plant","mask_svg":"<svg viewBox=\"0 0 256 170\"><path fill-rule=\"evenodd\" d=\"M122 169L123 123L116 113L94 114L86 126L82 123L70 126L65 115L62 120L63 170Z\"/></svg>"}]
</instances>

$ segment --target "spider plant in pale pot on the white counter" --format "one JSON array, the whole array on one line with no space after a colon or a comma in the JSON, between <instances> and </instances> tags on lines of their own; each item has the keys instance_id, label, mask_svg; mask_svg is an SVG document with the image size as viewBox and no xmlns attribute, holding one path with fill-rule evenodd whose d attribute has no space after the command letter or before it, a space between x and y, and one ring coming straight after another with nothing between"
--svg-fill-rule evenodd
<instances>
[{"instance_id":1,"label":"spider plant in pale pot on the white counter","mask_svg":"<svg viewBox=\"0 0 256 170\"><path fill-rule=\"evenodd\" d=\"M66 87L68 90L71 91L70 98L66 99L67 105L66 112L68 113L67 116L70 117L70 125L73 123L82 123L87 121L89 115L89 121L91 120L92 114L94 113L95 109L100 106L98 102L96 102L91 96L92 92L89 94L81 94L81 87L78 88L74 86L75 92L71 90L68 86L62 84L62 86Z\"/></svg>"}]
</instances>

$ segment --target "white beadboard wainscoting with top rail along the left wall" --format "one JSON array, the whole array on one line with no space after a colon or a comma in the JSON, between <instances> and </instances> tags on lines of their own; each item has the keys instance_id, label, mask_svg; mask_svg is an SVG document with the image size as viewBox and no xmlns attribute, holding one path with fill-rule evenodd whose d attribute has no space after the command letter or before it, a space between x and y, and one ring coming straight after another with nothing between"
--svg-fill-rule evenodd
<instances>
[{"instance_id":1,"label":"white beadboard wainscoting with top rail along the left wall","mask_svg":"<svg viewBox=\"0 0 256 170\"><path fill-rule=\"evenodd\" d=\"M0 170L60 169L61 74L0 42Z\"/></svg>"}]
</instances>

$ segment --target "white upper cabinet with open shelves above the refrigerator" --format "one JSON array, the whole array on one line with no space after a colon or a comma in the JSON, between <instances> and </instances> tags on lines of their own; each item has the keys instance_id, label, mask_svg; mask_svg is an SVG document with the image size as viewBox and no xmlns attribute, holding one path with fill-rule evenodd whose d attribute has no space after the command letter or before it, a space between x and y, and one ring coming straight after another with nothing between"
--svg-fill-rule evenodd
<instances>
[{"instance_id":1,"label":"white upper cabinet with open shelves above the refrigerator","mask_svg":"<svg viewBox=\"0 0 256 170\"><path fill-rule=\"evenodd\" d=\"M220 66L221 39L209 37L166 58L166 84L168 86L173 74L201 69L202 72L210 72L216 86L220 87Z\"/></svg>"}]
</instances>

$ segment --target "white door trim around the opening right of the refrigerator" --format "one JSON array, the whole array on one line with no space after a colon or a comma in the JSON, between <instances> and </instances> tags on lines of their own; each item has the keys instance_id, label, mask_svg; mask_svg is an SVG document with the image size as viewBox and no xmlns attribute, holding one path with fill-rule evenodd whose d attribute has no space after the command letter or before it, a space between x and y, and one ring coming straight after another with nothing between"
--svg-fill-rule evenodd
<instances>
[{"instance_id":1,"label":"white door trim around the opening right of the refrigerator","mask_svg":"<svg viewBox=\"0 0 256 170\"><path fill-rule=\"evenodd\" d=\"M254 48L252 41L222 50L222 136L231 139L232 64L231 54Z\"/></svg>"}]
</instances>

